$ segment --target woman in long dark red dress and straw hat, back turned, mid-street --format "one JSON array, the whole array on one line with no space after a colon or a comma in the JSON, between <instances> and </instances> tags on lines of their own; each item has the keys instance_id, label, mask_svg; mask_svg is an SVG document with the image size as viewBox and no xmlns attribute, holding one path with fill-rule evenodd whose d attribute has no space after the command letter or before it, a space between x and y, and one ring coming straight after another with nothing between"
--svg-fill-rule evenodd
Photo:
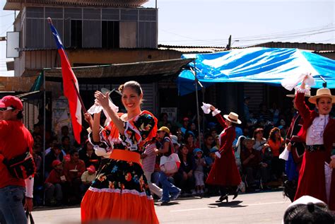
<instances>
[{"instance_id":1,"label":"woman in long dark red dress and straw hat, back turned, mid-street","mask_svg":"<svg viewBox=\"0 0 335 224\"><path fill-rule=\"evenodd\" d=\"M220 150L216 152L217 158L214 161L211 172L207 177L206 183L218 185L220 187L221 196L216 202L226 200L228 202L228 189L234 190L234 197L237 197L237 186L241 182L240 172L238 172L235 163L235 155L233 151L233 141L235 140L235 124L241 124L238 115L234 112L225 114L225 120L215 107L211 105L213 116L218 119L218 122L223 126L223 131L220 134Z\"/></svg>"}]
</instances>

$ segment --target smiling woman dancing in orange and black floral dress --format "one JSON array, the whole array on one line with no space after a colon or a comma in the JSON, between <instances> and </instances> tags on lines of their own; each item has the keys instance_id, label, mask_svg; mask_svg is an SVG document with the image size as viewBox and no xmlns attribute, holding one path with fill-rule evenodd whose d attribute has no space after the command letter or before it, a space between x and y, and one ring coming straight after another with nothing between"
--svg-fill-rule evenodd
<instances>
[{"instance_id":1,"label":"smiling woman dancing in orange and black floral dress","mask_svg":"<svg viewBox=\"0 0 335 224\"><path fill-rule=\"evenodd\" d=\"M157 119L141 111L143 92L139 83L129 81L119 87L127 114L117 114L109 104L109 93L95 92L95 98L111 118L100 129L100 114L93 119L93 139L97 155L110 160L102 167L81 203L81 220L127 220L158 223L140 154L143 145L157 131Z\"/></svg>"}]
</instances>

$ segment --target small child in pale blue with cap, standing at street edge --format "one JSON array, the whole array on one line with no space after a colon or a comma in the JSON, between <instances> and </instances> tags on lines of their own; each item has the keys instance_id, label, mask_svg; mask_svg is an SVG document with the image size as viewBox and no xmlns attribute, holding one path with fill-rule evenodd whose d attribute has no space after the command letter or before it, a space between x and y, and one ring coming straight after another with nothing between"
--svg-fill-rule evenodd
<instances>
[{"instance_id":1,"label":"small child in pale blue with cap, standing at street edge","mask_svg":"<svg viewBox=\"0 0 335 224\"><path fill-rule=\"evenodd\" d=\"M200 148L195 148L193 153L195 155L196 163L196 169L194 170L196 194L204 194L204 167L206 166L205 158L202 157L203 151Z\"/></svg>"}]
</instances>

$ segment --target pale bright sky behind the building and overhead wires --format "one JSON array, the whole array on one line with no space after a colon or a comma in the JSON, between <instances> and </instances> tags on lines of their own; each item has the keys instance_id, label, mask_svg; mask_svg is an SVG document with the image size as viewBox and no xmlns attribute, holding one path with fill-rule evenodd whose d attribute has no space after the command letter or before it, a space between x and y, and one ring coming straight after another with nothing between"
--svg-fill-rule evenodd
<instances>
[{"instance_id":1,"label":"pale bright sky behind the building and overhead wires","mask_svg":"<svg viewBox=\"0 0 335 224\"><path fill-rule=\"evenodd\" d=\"M0 37L13 31L13 11L0 0ZM155 8L150 0L144 7ZM335 44L334 0L157 0L158 44L232 47L263 42ZM6 42L0 41L0 76L6 71Z\"/></svg>"}]
</instances>

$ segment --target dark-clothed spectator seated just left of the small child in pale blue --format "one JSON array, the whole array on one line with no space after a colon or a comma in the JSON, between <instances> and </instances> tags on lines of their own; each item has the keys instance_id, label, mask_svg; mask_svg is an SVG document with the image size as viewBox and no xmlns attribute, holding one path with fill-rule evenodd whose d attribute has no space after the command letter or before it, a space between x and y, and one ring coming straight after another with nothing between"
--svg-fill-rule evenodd
<instances>
[{"instance_id":1,"label":"dark-clothed spectator seated just left of the small child in pale blue","mask_svg":"<svg viewBox=\"0 0 335 224\"><path fill-rule=\"evenodd\" d=\"M175 184L182 189L184 195L189 193L196 194L193 173L196 168L194 156L189 153L189 149L185 145L180 146L178 155L180 158L180 167L178 172L173 176Z\"/></svg>"}]
</instances>

